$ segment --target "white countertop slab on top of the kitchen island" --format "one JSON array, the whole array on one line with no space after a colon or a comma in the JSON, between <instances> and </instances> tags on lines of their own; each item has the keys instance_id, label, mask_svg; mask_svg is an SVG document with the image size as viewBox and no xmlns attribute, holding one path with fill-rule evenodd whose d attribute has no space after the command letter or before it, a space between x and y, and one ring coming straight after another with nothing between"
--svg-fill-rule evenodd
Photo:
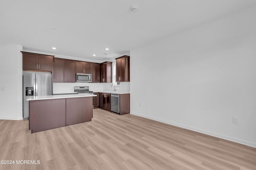
<instances>
[{"instance_id":1,"label":"white countertop slab on top of the kitchen island","mask_svg":"<svg viewBox=\"0 0 256 170\"><path fill-rule=\"evenodd\" d=\"M50 95L50 96L28 96L27 101L31 100L49 100L49 99L64 99L64 98L83 98L93 97L94 94L65 94L65 95Z\"/></svg>"}]
</instances>

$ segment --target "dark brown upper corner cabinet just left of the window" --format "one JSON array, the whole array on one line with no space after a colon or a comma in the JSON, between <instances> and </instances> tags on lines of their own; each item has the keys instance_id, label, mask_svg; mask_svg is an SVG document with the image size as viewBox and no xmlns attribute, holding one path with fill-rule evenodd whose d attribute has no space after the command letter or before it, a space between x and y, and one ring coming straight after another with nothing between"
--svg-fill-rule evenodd
<instances>
[{"instance_id":1,"label":"dark brown upper corner cabinet just left of the window","mask_svg":"<svg viewBox=\"0 0 256 170\"><path fill-rule=\"evenodd\" d=\"M100 82L112 83L112 62L106 61L100 64Z\"/></svg>"}]
</instances>

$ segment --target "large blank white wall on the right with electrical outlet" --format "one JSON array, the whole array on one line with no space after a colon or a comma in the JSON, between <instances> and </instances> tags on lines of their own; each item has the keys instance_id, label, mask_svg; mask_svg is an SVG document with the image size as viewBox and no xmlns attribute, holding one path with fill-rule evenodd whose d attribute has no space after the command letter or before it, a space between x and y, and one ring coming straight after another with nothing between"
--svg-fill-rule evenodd
<instances>
[{"instance_id":1,"label":"large blank white wall on the right with electrical outlet","mask_svg":"<svg viewBox=\"0 0 256 170\"><path fill-rule=\"evenodd\" d=\"M131 113L256 147L255 16L252 7L131 50Z\"/></svg>"}]
</instances>

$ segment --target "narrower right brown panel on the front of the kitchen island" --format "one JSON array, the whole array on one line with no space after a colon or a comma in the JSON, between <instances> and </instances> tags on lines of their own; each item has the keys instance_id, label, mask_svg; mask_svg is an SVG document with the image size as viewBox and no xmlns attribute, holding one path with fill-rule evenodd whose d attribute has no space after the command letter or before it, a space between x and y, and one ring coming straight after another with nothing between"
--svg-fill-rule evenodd
<instances>
[{"instance_id":1,"label":"narrower right brown panel on the front of the kitchen island","mask_svg":"<svg viewBox=\"0 0 256 170\"><path fill-rule=\"evenodd\" d=\"M92 97L66 99L66 126L92 121Z\"/></svg>"}]
</instances>

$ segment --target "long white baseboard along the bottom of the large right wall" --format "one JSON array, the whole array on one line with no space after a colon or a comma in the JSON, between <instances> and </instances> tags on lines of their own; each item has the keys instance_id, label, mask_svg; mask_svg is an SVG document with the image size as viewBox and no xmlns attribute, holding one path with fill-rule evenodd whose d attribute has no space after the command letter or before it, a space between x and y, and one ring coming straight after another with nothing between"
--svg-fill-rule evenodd
<instances>
[{"instance_id":1,"label":"long white baseboard along the bottom of the large right wall","mask_svg":"<svg viewBox=\"0 0 256 170\"><path fill-rule=\"evenodd\" d=\"M203 129L198 129L198 128L186 126L186 125L182 125L182 124L179 124L179 123L174 123L174 122L158 119L158 118L155 118L155 117L150 117L150 116L147 116L147 115L142 115L142 114L135 113L135 112L130 112L130 114L137 115L137 116L140 116L140 117L145 117L145 118L152 119L152 120L155 120L155 121L160 121L162 123L167 123L169 125L174 125L174 126L177 126L177 127L181 127L181 128L184 128L184 129L191 130L191 131L203 133L203 134L210 135L210 136L213 136L213 137L218 137L220 139L225 139L225 140L228 140L228 141L232 141L232 142L235 142L235 143L240 143L242 145L246 145L246 146L256 148L256 143L252 143L250 141L244 141L242 139L236 139L236 138L233 138L233 137L221 135L221 134L210 132L210 131L205 131Z\"/></svg>"}]
</instances>

